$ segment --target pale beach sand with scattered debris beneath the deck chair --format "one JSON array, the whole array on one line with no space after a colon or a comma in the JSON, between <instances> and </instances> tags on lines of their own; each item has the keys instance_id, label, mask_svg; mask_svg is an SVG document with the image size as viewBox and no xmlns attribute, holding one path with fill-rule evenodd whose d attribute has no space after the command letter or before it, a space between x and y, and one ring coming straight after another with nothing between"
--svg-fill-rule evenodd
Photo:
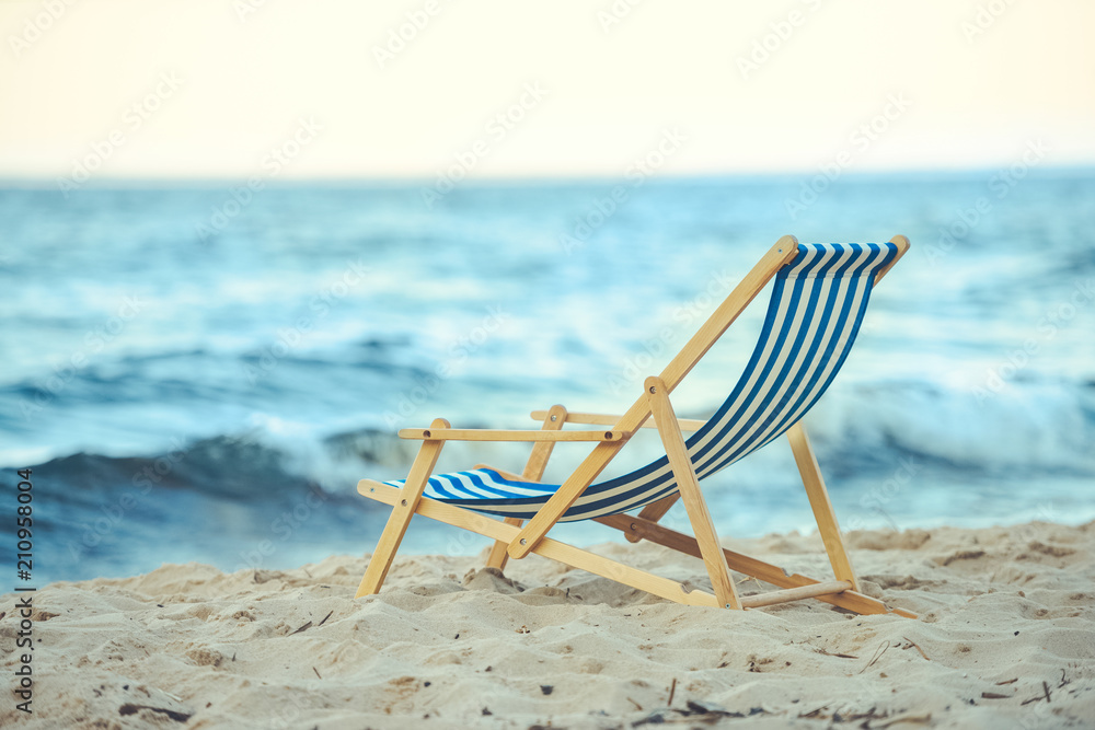
<instances>
[{"instance_id":1,"label":"pale beach sand with scattered debris beneath the deck chair","mask_svg":"<svg viewBox=\"0 0 1095 730\"><path fill-rule=\"evenodd\" d=\"M1095 727L1095 523L851 545L867 591L921 619L692 609L534 556L508 568L516 582L473 558L401 557L357 601L366 560L344 556L56 583L34 598L34 715L5 696L0 725ZM728 546L825 575L816 535ZM597 549L704 582L699 560L652 545ZM0 604L9 684L15 600Z\"/></svg>"}]
</instances>

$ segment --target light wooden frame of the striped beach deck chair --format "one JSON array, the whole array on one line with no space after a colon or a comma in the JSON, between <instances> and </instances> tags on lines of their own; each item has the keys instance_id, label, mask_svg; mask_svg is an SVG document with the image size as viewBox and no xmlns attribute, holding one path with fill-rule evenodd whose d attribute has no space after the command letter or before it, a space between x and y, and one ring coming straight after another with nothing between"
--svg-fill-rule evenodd
<instances>
[{"instance_id":1,"label":"light wooden frame of the striped beach deck chair","mask_svg":"<svg viewBox=\"0 0 1095 730\"><path fill-rule=\"evenodd\" d=\"M909 240L903 235L897 235L890 242L897 245L898 255L877 273L875 283L909 248ZM392 506L392 513L361 579L357 596L377 593L380 590L412 515L420 514L494 540L495 544L486 564L498 569L505 567L508 558L520 559L530 553L535 553L689 605L753 609L814 598L860 614L895 613L915 618L913 613L902 609L890 609L881 601L861 592L817 459L800 421L792 426L786 434L832 566L833 580L822 582L797 573L791 575L777 566L724 549L718 543L692 462L688 456L683 432L699 429L704 421L677 418L670 394L772 277L794 259L797 253L798 242L794 236L786 235L780 239L719 304L699 332L689 339L661 374L646 379L643 395L622 416L569 413L563 406L556 405L548 410L532 412L533 418L542 420L540 430L452 429L443 419L435 420L427 429L401 430L400 438L423 442L404 486L395 488L370 479L358 483L358 491L361 495ZM604 431L562 430L568 422L611 428ZM595 519L601 524L622 531L631 542L647 540L701 558L711 579L713 592L691 589L678 581L632 568L548 537L549 530L593 483L639 428L658 430L679 489L670 497L647 505L637 515L613 514ZM497 470L507 478L529 482L538 482L542 477L556 443L589 441L596 445L585 461L560 485L555 494L527 524L522 525L521 520L516 518L498 520L423 497L426 482L446 441L532 442L532 453L521 475ZM693 531L691 536L658 524L658 520L678 499L684 502ZM777 590L760 595L740 596L731 570L771 583Z\"/></svg>"}]
</instances>

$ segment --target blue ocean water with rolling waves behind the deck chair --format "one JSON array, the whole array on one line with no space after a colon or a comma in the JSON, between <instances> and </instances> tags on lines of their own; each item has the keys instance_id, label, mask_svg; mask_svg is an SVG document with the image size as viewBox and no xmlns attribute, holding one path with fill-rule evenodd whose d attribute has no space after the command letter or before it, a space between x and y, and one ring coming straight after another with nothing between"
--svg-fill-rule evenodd
<instances>
[{"instance_id":1,"label":"blue ocean water with rolling waves behind the deck chair","mask_svg":"<svg viewBox=\"0 0 1095 730\"><path fill-rule=\"evenodd\" d=\"M1091 520L1095 171L1022 172L464 183L437 199L416 183L9 185L0 514L31 467L43 581L361 554L387 508L355 485L405 476L396 429L621 413L780 235L903 233L912 250L807 418L842 525ZM680 415L725 397L763 309L675 393ZM588 448L558 447L546 478ZM614 471L657 449L636 437ZM439 467L519 471L526 453L451 444ZM725 536L810 529L783 443L705 485ZM420 520L405 549L484 545Z\"/></svg>"}]
</instances>

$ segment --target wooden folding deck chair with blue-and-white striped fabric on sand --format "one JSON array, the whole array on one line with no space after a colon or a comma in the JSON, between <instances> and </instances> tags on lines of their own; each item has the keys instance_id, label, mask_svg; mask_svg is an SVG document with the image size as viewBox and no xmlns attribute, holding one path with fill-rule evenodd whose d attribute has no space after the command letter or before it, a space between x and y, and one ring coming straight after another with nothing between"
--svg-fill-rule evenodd
<instances>
[{"instance_id":1,"label":"wooden folding deck chair with blue-and-white striped fabric on sand","mask_svg":"<svg viewBox=\"0 0 1095 730\"><path fill-rule=\"evenodd\" d=\"M487 565L530 553L560 560L679 603L752 609L818 599L861 614L901 609L864 595L841 538L832 505L802 419L832 382L855 339L872 288L909 247L902 235L883 244L799 244L784 236L727 296L714 314L622 416L570 413L563 406L534 410L539 430L451 428L403 429L420 440L406 479L364 479L358 491L392 507L391 517L357 595L377 593L412 515L439 520L496 541ZM759 341L729 397L706 421L679 419L670 395L752 299L774 279ZM653 420L653 422L648 422ZM564 424L599 428L564 430ZM623 476L595 484L598 475L639 428L656 428L665 455ZM685 438L684 433L691 432ZM786 434L814 510L833 579L815 580L733 551L723 549L699 482ZM533 444L522 474L479 465L431 476L446 441L527 441ZM593 444L562 485L542 484L553 447L562 441ZM692 535L658 523L680 498ZM637 511L637 513L635 512ZM692 589L548 536L556 522L596 520L621 530L631 542L648 540L703 560L712 591ZM528 521L527 523L525 521ZM740 596L731 571L775 587Z\"/></svg>"}]
</instances>

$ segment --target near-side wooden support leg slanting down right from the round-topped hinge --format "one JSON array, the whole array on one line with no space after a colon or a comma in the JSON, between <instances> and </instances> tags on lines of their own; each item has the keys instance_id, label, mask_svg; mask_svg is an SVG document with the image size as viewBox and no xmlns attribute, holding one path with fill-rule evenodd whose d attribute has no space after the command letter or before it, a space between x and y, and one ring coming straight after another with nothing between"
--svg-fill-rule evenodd
<instances>
[{"instance_id":1,"label":"near-side wooden support leg slanting down right from the round-topped hinge","mask_svg":"<svg viewBox=\"0 0 1095 730\"><path fill-rule=\"evenodd\" d=\"M738 599L737 589L734 588L734 579L730 577L730 568L726 564L726 555L723 554L723 546L718 544L715 524L711 520L707 503L703 500L703 494L700 491L700 482L695 477L692 460L689 459L688 450L684 447L684 437L677 422L673 406L669 402L665 381L660 378L647 378L646 397L650 402L654 422L658 427L658 434L666 448L669 465L673 470L673 476L677 477L677 486L680 489L681 499L684 500L684 509L688 511L692 531L700 545L700 554L707 568L707 575L711 577L712 588L715 589L715 598L718 600L718 604L724 607L741 609L741 601Z\"/></svg>"}]
</instances>

